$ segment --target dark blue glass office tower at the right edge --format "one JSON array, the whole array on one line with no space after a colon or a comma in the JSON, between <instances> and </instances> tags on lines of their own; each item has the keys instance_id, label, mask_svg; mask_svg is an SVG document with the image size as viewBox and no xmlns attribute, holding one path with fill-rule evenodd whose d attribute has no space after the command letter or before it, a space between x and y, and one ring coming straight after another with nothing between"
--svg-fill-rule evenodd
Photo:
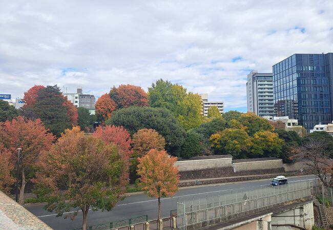
<instances>
[{"instance_id":1,"label":"dark blue glass office tower at the right edge","mask_svg":"<svg viewBox=\"0 0 333 230\"><path fill-rule=\"evenodd\" d=\"M333 115L333 54L294 54L273 65L275 116L297 119L306 130Z\"/></svg>"}]
</instances>

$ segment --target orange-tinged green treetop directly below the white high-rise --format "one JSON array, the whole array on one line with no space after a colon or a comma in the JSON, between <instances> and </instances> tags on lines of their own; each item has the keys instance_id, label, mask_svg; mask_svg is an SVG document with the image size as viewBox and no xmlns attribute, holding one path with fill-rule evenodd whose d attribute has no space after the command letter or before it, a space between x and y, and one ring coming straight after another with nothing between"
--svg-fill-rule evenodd
<instances>
[{"instance_id":1,"label":"orange-tinged green treetop directly below the white high-rise","mask_svg":"<svg viewBox=\"0 0 333 230\"><path fill-rule=\"evenodd\" d=\"M253 112L242 113L237 120L245 126L245 131L250 136L258 131L274 131L274 127L266 119L257 116Z\"/></svg>"}]
</instances>

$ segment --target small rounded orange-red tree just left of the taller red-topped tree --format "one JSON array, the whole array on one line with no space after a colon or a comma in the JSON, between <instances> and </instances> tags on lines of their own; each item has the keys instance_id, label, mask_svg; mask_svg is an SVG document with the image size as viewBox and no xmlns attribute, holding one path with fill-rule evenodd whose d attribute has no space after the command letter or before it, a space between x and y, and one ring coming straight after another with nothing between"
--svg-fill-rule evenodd
<instances>
[{"instance_id":1,"label":"small rounded orange-red tree just left of the taller red-topped tree","mask_svg":"<svg viewBox=\"0 0 333 230\"><path fill-rule=\"evenodd\" d=\"M117 104L108 94L103 94L100 98L98 98L95 108L97 121L106 121L111 118L114 110L117 108Z\"/></svg>"}]
</instances>

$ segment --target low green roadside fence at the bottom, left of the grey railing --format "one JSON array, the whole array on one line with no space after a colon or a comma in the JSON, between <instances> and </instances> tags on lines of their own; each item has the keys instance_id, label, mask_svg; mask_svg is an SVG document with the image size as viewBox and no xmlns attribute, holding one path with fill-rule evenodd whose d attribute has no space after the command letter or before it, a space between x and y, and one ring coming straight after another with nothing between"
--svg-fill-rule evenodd
<instances>
[{"instance_id":1,"label":"low green roadside fence at the bottom, left of the grey railing","mask_svg":"<svg viewBox=\"0 0 333 230\"><path fill-rule=\"evenodd\" d=\"M130 219L125 219L125 220L118 220L118 221L113 221L109 223L102 223L102 224L96 224L96 225L91 225L87 226L88 230L108 230L112 228L118 228L118 227L123 227L123 226L130 226L132 224L136 223L142 223L142 222L147 222L148 221L148 216L138 216ZM72 230L82 230L82 228L75 228Z\"/></svg>"}]
</instances>

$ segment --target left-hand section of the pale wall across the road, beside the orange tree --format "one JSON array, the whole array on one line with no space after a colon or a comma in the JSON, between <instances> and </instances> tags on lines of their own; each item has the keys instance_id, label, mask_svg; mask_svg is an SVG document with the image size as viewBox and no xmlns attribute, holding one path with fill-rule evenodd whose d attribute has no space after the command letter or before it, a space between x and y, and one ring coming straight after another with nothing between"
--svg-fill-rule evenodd
<instances>
[{"instance_id":1,"label":"left-hand section of the pale wall across the road, beside the orange tree","mask_svg":"<svg viewBox=\"0 0 333 230\"><path fill-rule=\"evenodd\" d=\"M179 166L179 171L193 171L200 169L212 169L212 168L227 168L232 167L232 159L230 156L221 156L220 158L216 156L204 157L202 159L189 159L180 160L175 163L175 166Z\"/></svg>"}]
</instances>

